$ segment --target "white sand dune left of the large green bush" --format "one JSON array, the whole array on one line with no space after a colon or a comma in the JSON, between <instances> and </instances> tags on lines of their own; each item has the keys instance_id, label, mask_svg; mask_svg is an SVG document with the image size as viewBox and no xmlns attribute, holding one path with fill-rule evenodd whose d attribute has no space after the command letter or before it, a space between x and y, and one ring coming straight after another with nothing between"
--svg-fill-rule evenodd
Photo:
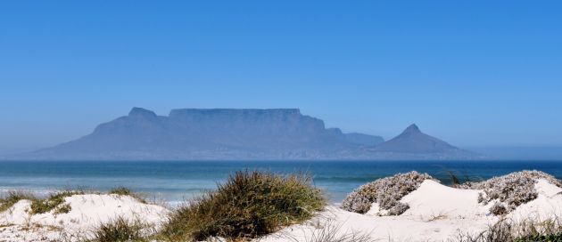
<instances>
[{"instance_id":1,"label":"white sand dune left of the large green bush","mask_svg":"<svg viewBox=\"0 0 562 242\"><path fill-rule=\"evenodd\" d=\"M21 200L0 214L0 241L52 241L91 236L103 222L117 217L140 220L155 227L161 225L168 209L147 205L136 198L119 195L74 195L65 198L68 214L29 214L31 202Z\"/></svg>"}]
</instances>

